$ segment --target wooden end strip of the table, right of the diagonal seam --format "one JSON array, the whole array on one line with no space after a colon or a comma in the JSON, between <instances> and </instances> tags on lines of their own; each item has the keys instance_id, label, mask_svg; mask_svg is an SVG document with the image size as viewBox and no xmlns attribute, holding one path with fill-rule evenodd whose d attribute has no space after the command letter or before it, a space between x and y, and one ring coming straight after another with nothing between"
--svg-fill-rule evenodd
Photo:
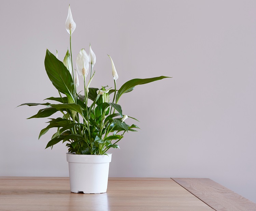
<instances>
[{"instance_id":1,"label":"wooden end strip of the table, right of the diagonal seam","mask_svg":"<svg viewBox=\"0 0 256 211\"><path fill-rule=\"evenodd\" d=\"M207 178L172 178L187 191L218 211L253 211L256 204Z\"/></svg>"}]
</instances>

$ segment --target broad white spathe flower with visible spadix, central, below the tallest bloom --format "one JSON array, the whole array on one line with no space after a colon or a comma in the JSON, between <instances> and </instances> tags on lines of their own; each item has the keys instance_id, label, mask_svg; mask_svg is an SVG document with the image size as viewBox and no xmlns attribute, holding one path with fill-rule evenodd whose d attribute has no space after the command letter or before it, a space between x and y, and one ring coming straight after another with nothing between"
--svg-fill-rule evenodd
<instances>
[{"instance_id":1,"label":"broad white spathe flower with visible spadix, central, below the tallest bloom","mask_svg":"<svg viewBox=\"0 0 256 211\"><path fill-rule=\"evenodd\" d=\"M76 57L76 67L79 75L84 75L86 78L89 72L89 57L84 48L80 50Z\"/></svg>"}]
</instances>

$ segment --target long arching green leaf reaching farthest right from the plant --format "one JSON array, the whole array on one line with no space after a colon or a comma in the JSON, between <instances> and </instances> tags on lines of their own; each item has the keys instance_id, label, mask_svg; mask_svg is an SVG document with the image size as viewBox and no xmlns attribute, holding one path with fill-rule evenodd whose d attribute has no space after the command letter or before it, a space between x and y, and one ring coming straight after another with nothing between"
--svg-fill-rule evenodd
<instances>
[{"instance_id":1,"label":"long arching green leaf reaching farthest right from the plant","mask_svg":"<svg viewBox=\"0 0 256 211\"><path fill-rule=\"evenodd\" d=\"M161 80L163 78L171 78L167 76L160 76L160 77L155 77L155 78L134 78L131 79L123 84L123 86L118 90L116 94L116 103L118 102L120 96L124 93L130 92L134 89L135 86L141 85L141 84L147 84L156 80Z\"/></svg>"}]
</instances>

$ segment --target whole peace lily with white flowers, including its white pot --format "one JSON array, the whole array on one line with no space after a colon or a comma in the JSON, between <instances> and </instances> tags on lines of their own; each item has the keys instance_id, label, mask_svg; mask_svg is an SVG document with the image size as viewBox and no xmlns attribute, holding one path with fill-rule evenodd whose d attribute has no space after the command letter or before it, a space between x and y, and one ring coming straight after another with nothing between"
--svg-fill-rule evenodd
<instances>
[{"instance_id":1,"label":"whole peace lily with white flowers, including its white pot","mask_svg":"<svg viewBox=\"0 0 256 211\"><path fill-rule=\"evenodd\" d=\"M76 70L73 68L71 35L75 28L76 24L69 6L66 29L70 35L70 51L67 50L64 60L60 61L57 59L57 55L46 50L45 70L53 86L58 90L59 97L49 97L45 99L48 101L46 103L24 103L22 105L46 106L28 119L50 117L56 112L61 114L58 118L49 118L47 122L49 124L41 130L39 138L49 129L56 128L57 132L53 134L46 148L53 148L60 141L66 143L71 192L104 193L107 189L109 163L112 155L107 151L110 148L119 148L117 143L124 137L124 134L139 128L135 124L125 123L127 118L136 119L123 114L118 100L124 93L131 92L137 85L168 77L132 79L117 90L118 75L113 60L109 56L112 63L114 89L90 87L95 76L93 67L96 63L96 56L91 45L89 46L89 55L85 49L82 49L76 57ZM90 77L88 77L89 69ZM77 93L79 86L77 73L83 77L83 94ZM57 103L51 103L52 101Z\"/></svg>"}]
</instances>

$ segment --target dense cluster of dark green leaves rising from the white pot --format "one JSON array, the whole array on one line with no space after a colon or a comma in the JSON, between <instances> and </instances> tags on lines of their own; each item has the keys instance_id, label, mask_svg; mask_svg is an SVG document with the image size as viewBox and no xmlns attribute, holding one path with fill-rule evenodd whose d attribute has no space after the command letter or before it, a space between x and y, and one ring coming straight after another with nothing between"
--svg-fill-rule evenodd
<instances>
[{"instance_id":1,"label":"dense cluster of dark green leaves rising from the white pot","mask_svg":"<svg viewBox=\"0 0 256 211\"><path fill-rule=\"evenodd\" d=\"M45 56L45 70L59 94L62 93L66 96L60 94L60 97L45 99L50 102L56 101L57 104L47 102L22 105L46 106L28 119L50 117L58 111L61 112L62 117L49 118L50 121L47 122L49 124L41 130L39 138L49 129L55 127L57 132L53 134L46 148L52 148L60 141L67 142L68 152L75 154L105 154L110 148L119 148L117 142L124 137L124 133L136 131L135 129L139 128L135 124L128 125L122 121L122 108L117 104L120 96L132 91L137 85L167 78L166 76L137 78L127 81L119 90L109 90L108 93L98 94L98 88L89 88L88 94L80 95L75 91L72 76L66 66L48 49ZM102 87L101 90L105 91L105 88ZM113 103L109 102L109 95L112 93L115 93L115 103L114 100ZM88 99L92 101L90 105ZM82 118L81 122L80 118Z\"/></svg>"}]
</instances>

